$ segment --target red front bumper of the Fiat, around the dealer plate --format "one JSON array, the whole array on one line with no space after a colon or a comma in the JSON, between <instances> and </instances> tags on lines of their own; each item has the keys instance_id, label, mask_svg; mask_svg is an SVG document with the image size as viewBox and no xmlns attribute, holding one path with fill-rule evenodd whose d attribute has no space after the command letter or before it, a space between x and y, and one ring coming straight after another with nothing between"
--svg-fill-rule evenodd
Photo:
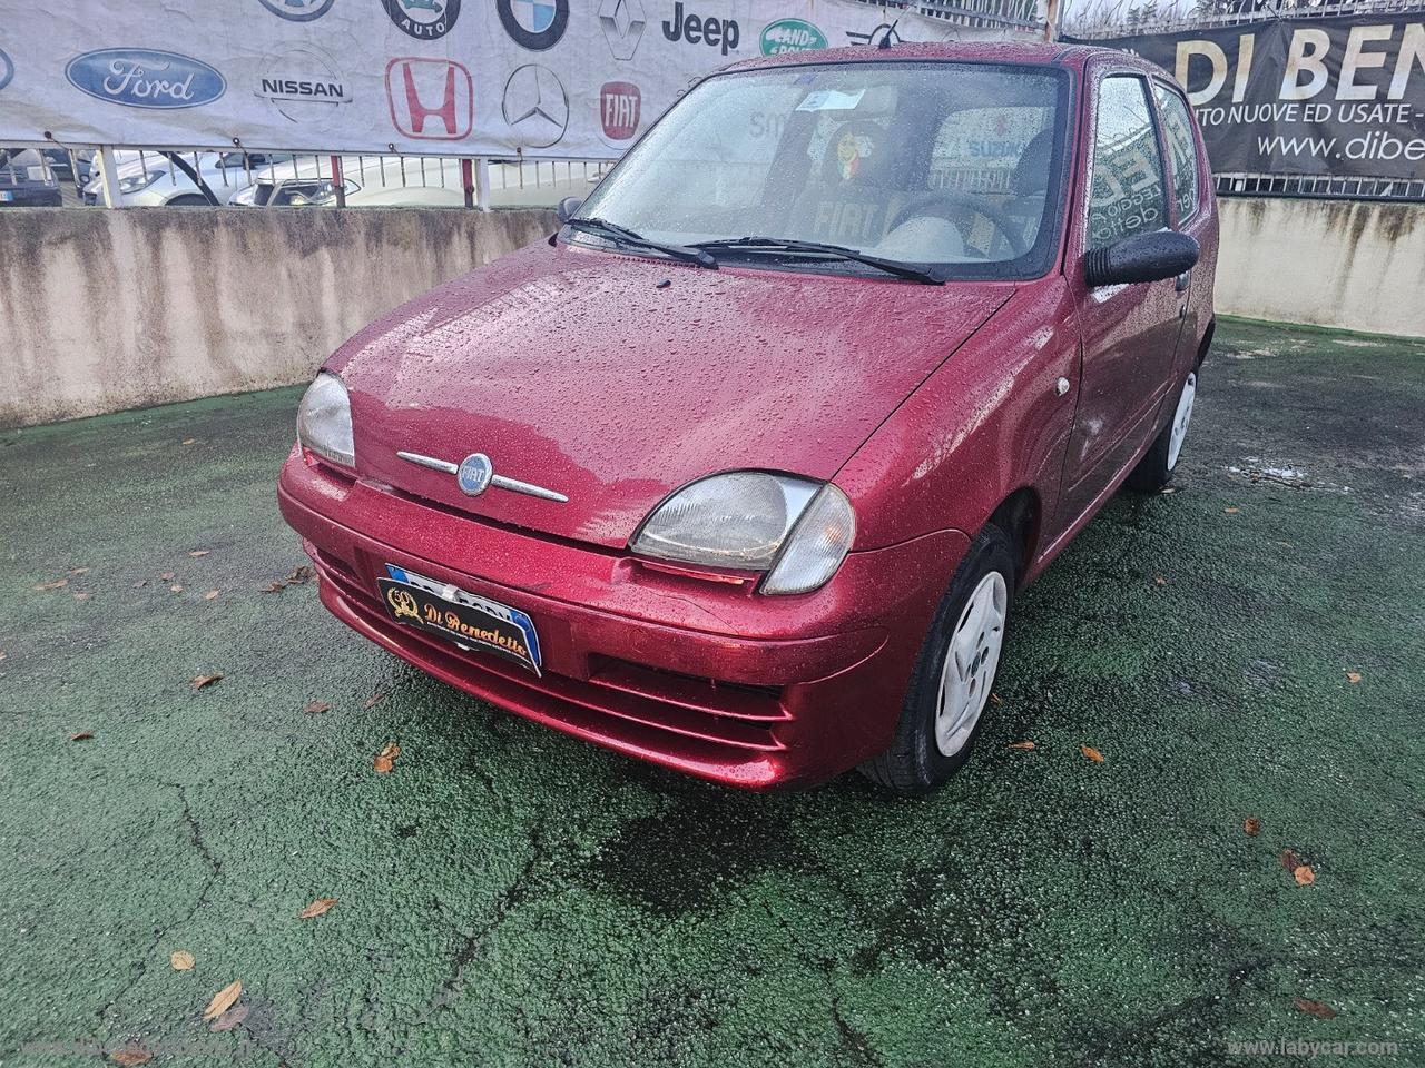
<instances>
[{"instance_id":1,"label":"red front bumper of the Fiat, around the dealer plate","mask_svg":"<svg viewBox=\"0 0 1425 1068\"><path fill-rule=\"evenodd\" d=\"M754 789L828 779L889 743L968 544L942 531L852 553L814 594L761 597L351 483L295 449L278 498L322 602L378 645L537 722ZM527 612L543 672L393 622L386 564Z\"/></svg>"}]
</instances>

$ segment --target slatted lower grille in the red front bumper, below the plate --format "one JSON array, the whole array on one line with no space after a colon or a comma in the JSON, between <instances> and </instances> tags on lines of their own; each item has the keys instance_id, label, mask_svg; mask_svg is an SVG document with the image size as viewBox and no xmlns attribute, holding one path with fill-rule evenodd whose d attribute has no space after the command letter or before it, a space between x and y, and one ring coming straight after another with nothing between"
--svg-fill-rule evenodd
<instances>
[{"instance_id":1,"label":"slatted lower grille in the red front bumper, below the plate","mask_svg":"<svg viewBox=\"0 0 1425 1068\"><path fill-rule=\"evenodd\" d=\"M395 642L419 666L433 664L460 678L499 684L514 708L539 703L556 719L583 729L640 745L660 748L656 739L677 739L684 748L772 753L784 749L775 728L791 719L775 686L745 686L650 668L613 656L591 656L589 678L576 679L546 671L536 676L489 654L465 651L452 642L386 615L372 587L356 570L328 553L316 554L318 572L346 607L375 631ZM543 699L543 701L540 701ZM549 699L557 702L549 703ZM500 698L497 696L499 702ZM710 753L712 756L712 753Z\"/></svg>"}]
</instances>

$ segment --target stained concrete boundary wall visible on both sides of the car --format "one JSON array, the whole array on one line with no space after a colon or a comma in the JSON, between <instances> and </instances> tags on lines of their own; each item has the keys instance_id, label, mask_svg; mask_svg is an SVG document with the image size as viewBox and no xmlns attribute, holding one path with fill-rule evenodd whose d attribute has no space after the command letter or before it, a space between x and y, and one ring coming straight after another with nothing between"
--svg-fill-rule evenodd
<instances>
[{"instance_id":1,"label":"stained concrete boundary wall visible on both sides of the car","mask_svg":"<svg viewBox=\"0 0 1425 1068\"><path fill-rule=\"evenodd\" d=\"M1425 205L1224 198L1217 308L1425 336ZM0 426L292 384L544 211L0 211Z\"/></svg>"}]
</instances>

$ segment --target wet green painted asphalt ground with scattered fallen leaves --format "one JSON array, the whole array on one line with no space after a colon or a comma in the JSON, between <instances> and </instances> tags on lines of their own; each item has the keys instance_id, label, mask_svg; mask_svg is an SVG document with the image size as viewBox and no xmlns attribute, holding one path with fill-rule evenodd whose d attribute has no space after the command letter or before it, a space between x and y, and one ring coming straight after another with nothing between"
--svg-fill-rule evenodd
<instances>
[{"instance_id":1,"label":"wet green painted asphalt ground with scattered fallen leaves","mask_svg":"<svg viewBox=\"0 0 1425 1068\"><path fill-rule=\"evenodd\" d=\"M1425 342L1226 323L922 800L680 779L262 592L296 397L0 433L6 1068L1425 1062Z\"/></svg>"}]
</instances>

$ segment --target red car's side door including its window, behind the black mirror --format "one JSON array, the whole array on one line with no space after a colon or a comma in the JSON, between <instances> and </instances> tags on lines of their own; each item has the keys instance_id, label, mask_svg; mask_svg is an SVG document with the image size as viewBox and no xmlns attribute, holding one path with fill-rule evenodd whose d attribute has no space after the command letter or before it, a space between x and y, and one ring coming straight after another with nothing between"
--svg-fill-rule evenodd
<instances>
[{"instance_id":1,"label":"red car's side door including its window, behind the black mirror","mask_svg":"<svg viewBox=\"0 0 1425 1068\"><path fill-rule=\"evenodd\" d=\"M1178 281L1089 289L1084 253L1171 224L1163 145L1147 78L1090 78L1086 195L1069 271L1083 293L1083 353L1074 427L1064 457L1063 525L1089 508L1156 430L1173 372L1181 313Z\"/></svg>"}]
</instances>

